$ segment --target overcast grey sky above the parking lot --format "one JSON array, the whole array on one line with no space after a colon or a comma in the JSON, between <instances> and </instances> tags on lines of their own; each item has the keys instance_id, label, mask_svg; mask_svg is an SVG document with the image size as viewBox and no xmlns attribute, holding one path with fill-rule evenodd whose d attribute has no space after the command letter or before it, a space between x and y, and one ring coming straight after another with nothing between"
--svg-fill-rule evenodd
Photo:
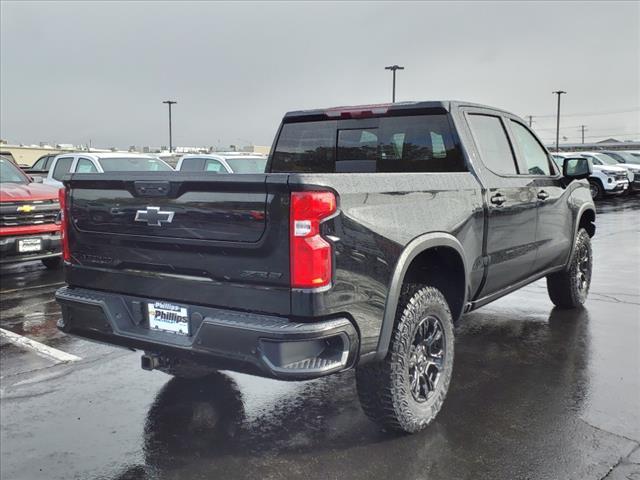
<instances>
[{"instance_id":1,"label":"overcast grey sky above the parking lot","mask_svg":"<svg viewBox=\"0 0 640 480\"><path fill-rule=\"evenodd\" d=\"M640 3L0 3L0 136L269 145L287 110L459 99L640 139ZM603 115L605 112L617 112ZM599 115L581 115L581 114ZM626 136L624 136L624 135ZM591 138L597 137L597 138Z\"/></svg>"}]
</instances>

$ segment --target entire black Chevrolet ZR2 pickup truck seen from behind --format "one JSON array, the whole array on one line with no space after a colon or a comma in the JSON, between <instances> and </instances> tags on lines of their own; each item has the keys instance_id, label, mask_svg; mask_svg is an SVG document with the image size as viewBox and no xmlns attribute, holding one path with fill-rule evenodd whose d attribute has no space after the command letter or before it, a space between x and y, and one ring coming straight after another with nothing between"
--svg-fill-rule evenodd
<instances>
[{"instance_id":1,"label":"entire black Chevrolet ZR2 pickup truck seen from behind","mask_svg":"<svg viewBox=\"0 0 640 480\"><path fill-rule=\"evenodd\" d=\"M356 368L365 413L414 432L463 313L542 277L584 303L590 165L563 170L517 116L441 101L288 113L263 174L74 174L59 328L174 375Z\"/></svg>"}]
</instances>

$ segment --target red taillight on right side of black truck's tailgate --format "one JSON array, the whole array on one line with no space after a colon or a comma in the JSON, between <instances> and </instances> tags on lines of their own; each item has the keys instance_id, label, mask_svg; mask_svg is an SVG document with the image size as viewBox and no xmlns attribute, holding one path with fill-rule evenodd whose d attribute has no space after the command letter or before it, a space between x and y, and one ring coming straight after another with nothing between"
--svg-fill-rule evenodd
<instances>
[{"instance_id":1,"label":"red taillight on right side of black truck's tailgate","mask_svg":"<svg viewBox=\"0 0 640 480\"><path fill-rule=\"evenodd\" d=\"M320 221L336 211L331 192L291 193L291 286L317 288L331 283L331 244L320 235Z\"/></svg>"}]
</instances>

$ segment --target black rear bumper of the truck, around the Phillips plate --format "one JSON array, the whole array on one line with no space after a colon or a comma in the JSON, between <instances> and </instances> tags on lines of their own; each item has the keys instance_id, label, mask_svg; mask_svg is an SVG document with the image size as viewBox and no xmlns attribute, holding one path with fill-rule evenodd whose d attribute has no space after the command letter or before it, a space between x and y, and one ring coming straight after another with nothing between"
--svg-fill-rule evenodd
<instances>
[{"instance_id":1,"label":"black rear bumper of the truck, around the Phillips plate","mask_svg":"<svg viewBox=\"0 0 640 480\"><path fill-rule=\"evenodd\" d=\"M147 302L157 299L64 287L58 328L66 333L220 370L288 380L317 378L353 366L358 334L347 318L313 323L187 305L191 335L150 330Z\"/></svg>"}]
</instances>

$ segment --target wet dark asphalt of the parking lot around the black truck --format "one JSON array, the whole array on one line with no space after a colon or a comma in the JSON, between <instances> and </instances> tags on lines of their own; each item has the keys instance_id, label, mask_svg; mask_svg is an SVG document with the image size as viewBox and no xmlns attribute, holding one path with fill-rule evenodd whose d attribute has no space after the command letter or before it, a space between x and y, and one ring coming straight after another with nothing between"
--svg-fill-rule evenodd
<instances>
[{"instance_id":1,"label":"wet dark asphalt of the parking lot around the black truck","mask_svg":"<svg viewBox=\"0 0 640 480\"><path fill-rule=\"evenodd\" d=\"M139 353L55 328L61 274L1 271L0 327L72 353L55 364L2 339L2 479L640 479L640 196L598 205L586 308L544 281L463 318L443 410L390 435L353 372L287 383L140 369Z\"/></svg>"}]
</instances>

